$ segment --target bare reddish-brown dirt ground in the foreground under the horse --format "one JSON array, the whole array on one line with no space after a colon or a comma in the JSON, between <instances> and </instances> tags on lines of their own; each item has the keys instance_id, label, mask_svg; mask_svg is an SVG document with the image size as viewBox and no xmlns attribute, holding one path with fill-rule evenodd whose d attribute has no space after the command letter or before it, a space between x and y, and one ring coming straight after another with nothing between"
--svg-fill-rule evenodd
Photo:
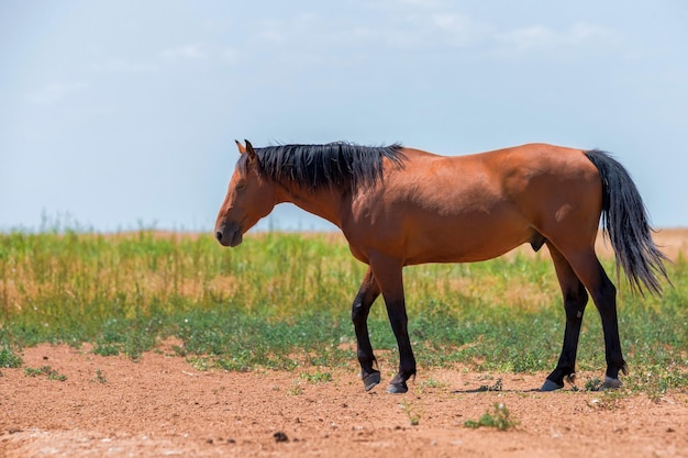
<instances>
[{"instance_id":1,"label":"bare reddish-brown dirt ground in the foreground under the horse","mask_svg":"<svg viewBox=\"0 0 688 458\"><path fill-rule=\"evenodd\" d=\"M672 258L686 253L686 231L657 238ZM26 348L23 368L0 369L0 457L688 457L688 393L540 393L545 373L420 366L410 391L392 395L385 388L396 360L385 353L382 383L365 392L355 360L346 369L198 371L171 344L140 361L87 346ZM46 366L66 379L25 373ZM320 380L324 372L332 379ZM501 391L481 390L500 380ZM517 426L464 425L496 403Z\"/></svg>"}]
</instances>

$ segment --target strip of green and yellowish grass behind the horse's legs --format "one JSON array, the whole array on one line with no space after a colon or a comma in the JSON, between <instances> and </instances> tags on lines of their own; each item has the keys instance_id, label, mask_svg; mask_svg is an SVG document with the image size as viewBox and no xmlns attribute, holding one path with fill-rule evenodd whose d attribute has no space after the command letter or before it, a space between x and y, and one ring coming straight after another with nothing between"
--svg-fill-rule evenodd
<instances>
[{"instance_id":1,"label":"strip of green and yellowish grass behind the horse's legs","mask_svg":"<svg viewBox=\"0 0 688 458\"><path fill-rule=\"evenodd\" d=\"M611 261L606 267L614 271ZM653 398L688 391L688 262L668 269L674 288L663 298L630 295L623 284L619 295L631 367L624 383ZM267 233L235 249L206 234L0 234L0 367L21 366L21 349L40 343L88 342L97 354L135 360L168 337L198 368L349 365L349 310L364 270L328 234ZM564 312L546 254L417 266L404 270L404 289L419 364L507 372L555 366ZM376 349L396 351L381 300L369 328ZM579 370L602 373L591 304L578 355Z\"/></svg>"}]
</instances>

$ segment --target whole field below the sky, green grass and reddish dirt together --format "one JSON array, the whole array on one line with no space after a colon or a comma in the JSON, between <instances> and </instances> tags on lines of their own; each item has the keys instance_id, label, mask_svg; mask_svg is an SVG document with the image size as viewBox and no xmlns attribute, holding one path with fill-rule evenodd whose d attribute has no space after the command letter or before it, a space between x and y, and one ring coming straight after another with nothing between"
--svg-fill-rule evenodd
<instances>
[{"instance_id":1,"label":"whole field below the sky, green grass and reddish dirt together","mask_svg":"<svg viewBox=\"0 0 688 458\"><path fill-rule=\"evenodd\" d=\"M0 456L687 456L688 232L662 298L619 284L620 390L587 310L575 386L533 391L564 313L546 254L404 271L419 375L370 316L382 386L357 376L349 306L364 266L334 234L56 228L0 235ZM608 248L599 246L614 275Z\"/></svg>"}]
</instances>

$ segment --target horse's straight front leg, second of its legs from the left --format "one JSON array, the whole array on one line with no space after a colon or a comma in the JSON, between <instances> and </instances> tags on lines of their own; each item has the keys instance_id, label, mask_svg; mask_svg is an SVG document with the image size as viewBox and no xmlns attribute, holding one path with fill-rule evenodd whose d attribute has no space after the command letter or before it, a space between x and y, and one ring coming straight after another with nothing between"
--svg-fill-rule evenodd
<instances>
[{"instance_id":1,"label":"horse's straight front leg, second of its legs from the left","mask_svg":"<svg viewBox=\"0 0 688 458\"><path fill-rule=\"evenodd\" d=\"M415 358L411 349L408 331L408 316L403 298L402 265L384 256L370 256L370 267L385 298L389 323L399 347L399 372L389 382L388 393L409 391L407 380L415 375Z\"/></svg>"}]
</instances>

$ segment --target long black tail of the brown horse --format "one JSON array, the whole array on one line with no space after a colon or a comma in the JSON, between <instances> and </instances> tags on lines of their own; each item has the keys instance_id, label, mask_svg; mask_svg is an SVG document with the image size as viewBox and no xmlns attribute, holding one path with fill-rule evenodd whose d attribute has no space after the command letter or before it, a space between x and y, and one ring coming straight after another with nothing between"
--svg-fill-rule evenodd
<instances>
[{"instance_id":1,"label":"long black tail of the brown horse","mask_svg":"<svg viewBox=\"0 0 688 458\"><path fill-rule=\"evenodd\" d=\"M659 277L668 281L664 261L667 257L652 239L647 211L626 169L608 153L585 152L602 179L602 226L614 248L617 277L620 268L633 291L643 294L643 287L662 294Z\"/></svg>"}]
</instances>

